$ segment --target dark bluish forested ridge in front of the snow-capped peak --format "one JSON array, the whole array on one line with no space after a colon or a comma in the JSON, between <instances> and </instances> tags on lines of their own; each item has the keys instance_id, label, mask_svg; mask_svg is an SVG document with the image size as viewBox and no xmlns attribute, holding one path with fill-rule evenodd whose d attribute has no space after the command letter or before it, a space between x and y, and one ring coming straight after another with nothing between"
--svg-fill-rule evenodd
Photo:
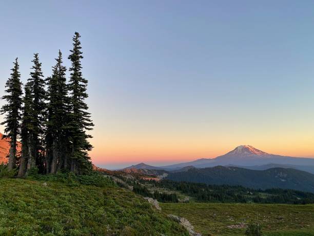
<instances>
[{"instance_id":1,"label":"dark bluish forested ridge in front of the snow-capped peak","mask_svg":"<svg viewBox=\"0 0 314 236\"><path fill-rule=\"evenodd\" d=\"M314 192L313 174L284 168L259 171L238 167L217 166L169 173L166 178L175 181L189 181L211 185L227 184L241 185L255 189L283 188Z\"/></svg>"}]
</instances>

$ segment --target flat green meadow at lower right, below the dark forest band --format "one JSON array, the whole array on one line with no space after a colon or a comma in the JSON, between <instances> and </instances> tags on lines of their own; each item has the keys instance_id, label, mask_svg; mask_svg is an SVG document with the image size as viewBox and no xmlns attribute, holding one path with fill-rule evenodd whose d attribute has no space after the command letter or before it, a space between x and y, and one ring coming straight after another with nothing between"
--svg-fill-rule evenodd
<instances>
[{"instance_id":1,"label":"flat green meadow at lower right, below the dark forest band","mask_svg":"<svg viewBox=\"0 0 314 236\"><path fill-rule=\"evenodd\" d=\"M265 235L314 235L314 205L164 203L168 214L186 217L204 235L243 235L228 225L259 219Z\"/></svg>"}]
</instances>

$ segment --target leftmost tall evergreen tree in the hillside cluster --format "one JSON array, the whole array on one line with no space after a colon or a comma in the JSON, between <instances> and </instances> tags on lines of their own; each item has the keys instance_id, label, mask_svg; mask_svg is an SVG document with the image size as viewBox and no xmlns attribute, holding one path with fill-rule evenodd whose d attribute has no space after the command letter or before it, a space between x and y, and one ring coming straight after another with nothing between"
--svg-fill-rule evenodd
<instances>
[{"instance_id":1,"label":"leftmost tall evergreen tree in the hillside cluster","mask_svg":"<svg viewBox=\"0 0 314 236\"><path fill-rule=\"evenodd\" d=\"M10 138L10 152L8 169L12 170L16 160L16 139L19 134L20 120L21 120L21 108L22 108L22 82L20 80L21 74L19 74L19 65L17 58L13 62L14 67L11 69L12 73L8 81L6 82L6 95L2 96L2 99L6 100L6 104L2 106L0 113L6 114L5 119L1 122L5 125L4 138Z\"/></svg>"}]
</instances>

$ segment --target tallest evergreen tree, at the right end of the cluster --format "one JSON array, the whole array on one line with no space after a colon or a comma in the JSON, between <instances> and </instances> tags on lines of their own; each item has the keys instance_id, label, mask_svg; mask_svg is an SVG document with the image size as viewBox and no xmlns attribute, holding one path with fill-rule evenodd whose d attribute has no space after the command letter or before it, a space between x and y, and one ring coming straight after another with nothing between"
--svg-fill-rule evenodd
<instances>
[{"instance_id":1,"label":"tallest evergreen tree, at the right end of the cluster","mask_svg":"<svg viewBox=\"0 0 314 236\"><path fill-rule=\"evenodd\" d=\"M87 80L82 77L82 47L80 42L80 34L75 32L73 37L73 49L68 59L71 60L69 70L69 130L71 141L71 161L70 170L75 173L83 173L91 168L88 151L92 149L88 138L91 135L86 134L87 130L92 130L93 123L90 119L90 113L87 112L88 106L85 99L88 97L86 93Z\"/></svg>"}]
</instances>

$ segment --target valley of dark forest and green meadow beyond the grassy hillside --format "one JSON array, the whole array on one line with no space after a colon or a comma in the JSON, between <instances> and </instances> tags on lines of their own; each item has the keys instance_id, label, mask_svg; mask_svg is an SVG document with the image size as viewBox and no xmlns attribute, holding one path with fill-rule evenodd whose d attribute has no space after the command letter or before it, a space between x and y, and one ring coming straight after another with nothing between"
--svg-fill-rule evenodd
<instances>
[{"instance_id":1,"label":"valley of dark forest and green meadow beyond the grassy hillside","mask_svg":"<svg viewBox=\"0 0 314 236\"><path fill-rule=\"evenodd\" d=\"M162 212L185 217L202 235L244 235L251 222L261 225L263 235L314 235L313 193L148 181L143 178L147 173L160 170L111 172L132 186L133 192L158 199Z\"/></svg>"}]
</instances>

